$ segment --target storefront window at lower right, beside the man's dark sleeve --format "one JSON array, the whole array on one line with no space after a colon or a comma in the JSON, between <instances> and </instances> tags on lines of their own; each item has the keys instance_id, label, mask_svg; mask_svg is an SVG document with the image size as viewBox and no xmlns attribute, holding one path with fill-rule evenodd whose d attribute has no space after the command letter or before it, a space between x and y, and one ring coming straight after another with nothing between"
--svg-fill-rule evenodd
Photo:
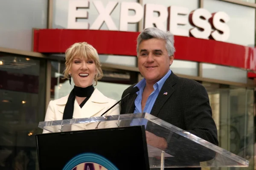
<instances>
[{"instance_id":1,"label":"storefront window at lower right, beside the man's dark sleeve","mask_svg":"<svg viewBox=\"0 0 256 170\"><path fill-rule=\"evenodd\" d=\"M203 83L204 85L204 83ZM218 129L219 146L250 161L248 168L230 170L253 170L254 167L254 113L253 89L207 88L212 117Z\"/></svg>"}]
</instances>

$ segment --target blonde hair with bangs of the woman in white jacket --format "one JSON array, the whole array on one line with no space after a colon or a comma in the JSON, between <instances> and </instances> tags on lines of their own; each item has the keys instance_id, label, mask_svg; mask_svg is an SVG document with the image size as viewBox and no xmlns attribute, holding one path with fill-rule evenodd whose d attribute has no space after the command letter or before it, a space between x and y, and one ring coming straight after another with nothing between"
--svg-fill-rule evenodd
<instances>
[{"instance_id":1,"label":"blonde hair with bangs of the woman in white jacket","mask_svg":"<svg viewBox=\"0 0 256 170\"><path fill-rule=\"evenodd\" d=\"M96 65L96 76L94 77L95 85L99 79L103 77L103 72L101 68L101 64L99 62L99 54L97 50L87 42L77 42L71 45L65 53L66 62L65 62L65 70L64 70L64 78L70 79L69 71L72 65L72 61L75 57L92 59Z\"/></svg>"}]
</instances>

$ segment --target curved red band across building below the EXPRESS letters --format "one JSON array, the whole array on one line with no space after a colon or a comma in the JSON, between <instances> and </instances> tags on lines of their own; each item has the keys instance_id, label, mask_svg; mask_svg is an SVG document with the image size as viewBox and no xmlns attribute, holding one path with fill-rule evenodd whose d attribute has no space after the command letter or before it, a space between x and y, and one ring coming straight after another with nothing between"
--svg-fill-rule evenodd
<instances>
[{"instance_id":1,"label":"curved red band across building below the EXPRESS letters","mask_svg":"<svg viewBox=\"0 0 256 170\"><path fill-rule=\"evenodd\" d=\"M40 29L34 33L34 50L64 53L75 42L88 42L99 54L136 56L139 32ZM206 62L256 71L256 49L194 37L175 36L175 59Z\"/></svg>"}]
</instances>

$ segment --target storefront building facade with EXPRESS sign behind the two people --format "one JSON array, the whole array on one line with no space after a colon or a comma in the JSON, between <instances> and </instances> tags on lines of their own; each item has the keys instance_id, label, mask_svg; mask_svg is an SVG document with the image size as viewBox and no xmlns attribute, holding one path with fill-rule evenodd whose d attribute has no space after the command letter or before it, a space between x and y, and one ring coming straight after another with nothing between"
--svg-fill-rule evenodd
<instances>
[{"instance_id":1,"label":"storefront building facade with EXPRESS sign behind the two people","mask_svg":"<svg viewBox=\"0 0 256 170\"><path fill-rule=\"evenodd\" d=\"M175 34L171 70L207 89L219 146L254 169L255 0L9 0L0 9L1 170L38 169L38 122L73 88L62 79L69 45L95 46L104 72L96 87L119 100L143 78L136 37L151 26Z\"/></svg>"}]
</instances>

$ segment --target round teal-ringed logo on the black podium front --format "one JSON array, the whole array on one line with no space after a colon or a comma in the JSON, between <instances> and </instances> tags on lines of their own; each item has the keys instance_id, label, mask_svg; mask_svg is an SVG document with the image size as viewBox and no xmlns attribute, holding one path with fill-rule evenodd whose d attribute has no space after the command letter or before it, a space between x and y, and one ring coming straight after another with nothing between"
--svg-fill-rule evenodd
<instances>
[{"instance_id":1,"label":"round teal-ringed logo on the black podium front","mask_svg":"<svg viewBox=\"0 0 256 170\"><path fill-rule=\"evenodd\" d=\"M111 161L95 153L82 153L73 157L63 170L119 170Z\"/></svg>"}]
</instances>

